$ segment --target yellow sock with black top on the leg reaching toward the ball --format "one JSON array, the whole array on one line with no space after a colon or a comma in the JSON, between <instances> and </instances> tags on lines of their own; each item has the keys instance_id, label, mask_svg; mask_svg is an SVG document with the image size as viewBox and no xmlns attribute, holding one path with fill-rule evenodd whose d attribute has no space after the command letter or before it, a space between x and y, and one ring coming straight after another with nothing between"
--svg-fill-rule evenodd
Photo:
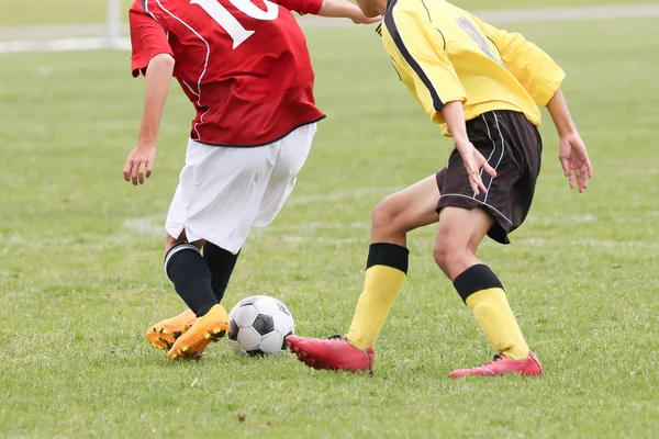
<instances>
[{"instance_id":1,"label":"yellow sock with black top on the leg reaching toward the ball","mask_svg":"<svg viewBox=\"0 0 659 439\"><path fill-rule=\"evenodd\" d=\"M384 326L395 296L407 275L410 251L388 243L371 244L366 263L364 292L346 335L350 345L358 349L372 348Z\"/></svg>"}]
</instances>

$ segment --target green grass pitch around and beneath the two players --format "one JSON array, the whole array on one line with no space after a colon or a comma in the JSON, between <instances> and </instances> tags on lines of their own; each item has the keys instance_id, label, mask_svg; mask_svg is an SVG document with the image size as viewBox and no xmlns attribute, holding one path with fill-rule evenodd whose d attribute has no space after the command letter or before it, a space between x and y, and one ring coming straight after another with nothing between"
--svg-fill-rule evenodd
<instances>
[{"instance_id":1,"label":"green grass pitch around and beneath the two players","mask_svg":"<svg viewBox=\"0 0 659 439\"><path fill-rule=\"evenodd\" d=\"M142 98L127 53L0 55L0 437L657 437L659 26L515 29L567 70L595 168L585 194L570 192L547 119L530 217L511 246L481 251L544 361L537 380L447 379L491 352L434 264L432 227L411 236L372 378L236 358L224 341L201 362L167 361L143 331L181 309L161 224L190 105L172 91L136 189L121 178ZM361 290L371 207L442 167L450 143L372 29L308 36L330 117L289 204L246 244L225 306L273 295L299 334L327 336L347 329Z\"/></svg>"}]
</instances>

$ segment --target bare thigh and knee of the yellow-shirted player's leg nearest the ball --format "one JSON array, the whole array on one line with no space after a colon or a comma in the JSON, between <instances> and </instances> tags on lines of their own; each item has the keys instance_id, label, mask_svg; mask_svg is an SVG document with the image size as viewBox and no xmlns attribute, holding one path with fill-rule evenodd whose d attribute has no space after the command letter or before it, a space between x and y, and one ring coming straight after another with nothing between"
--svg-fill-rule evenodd
<instances>
[{"instance_id":1,"label":"bare thigh and knee of the yellow-shirted player's leg nearest the ball","mask_svg":"<svg viewBox=\"0 0 659 439\"><path fill-rule=\"evenodd\" d=\"M372 213L373 229L384 227L406 233L434 224L439 219L438 200L437 175L426 177L382 200Z\"/></svg>"}]
</instances>

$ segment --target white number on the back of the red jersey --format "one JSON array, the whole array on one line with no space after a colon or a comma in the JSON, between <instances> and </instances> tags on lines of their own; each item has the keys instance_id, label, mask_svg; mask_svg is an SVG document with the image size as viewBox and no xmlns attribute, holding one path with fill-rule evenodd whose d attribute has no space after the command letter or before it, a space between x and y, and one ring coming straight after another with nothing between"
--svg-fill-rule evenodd
<instances>
[{"instance_id":1,"label":"white number on the back of the red jersey","mask_svg":"<svg viewBox=\"0 0 659 439\"><path fill-rule=\"evenodd\" d=\"M279 7L268 0L264 0L264 3L266 4L265 11L249 0L228 1L241 12L256 20L275 20L279 15ZM199 4L205 13L211 15L211 18L226 31L234 42L233 48L238 47L245 40L254 34L254 31L247 31L243 27L241 22L217 0L190 0L190 4Z\"/></svg>"}]
</instances>

